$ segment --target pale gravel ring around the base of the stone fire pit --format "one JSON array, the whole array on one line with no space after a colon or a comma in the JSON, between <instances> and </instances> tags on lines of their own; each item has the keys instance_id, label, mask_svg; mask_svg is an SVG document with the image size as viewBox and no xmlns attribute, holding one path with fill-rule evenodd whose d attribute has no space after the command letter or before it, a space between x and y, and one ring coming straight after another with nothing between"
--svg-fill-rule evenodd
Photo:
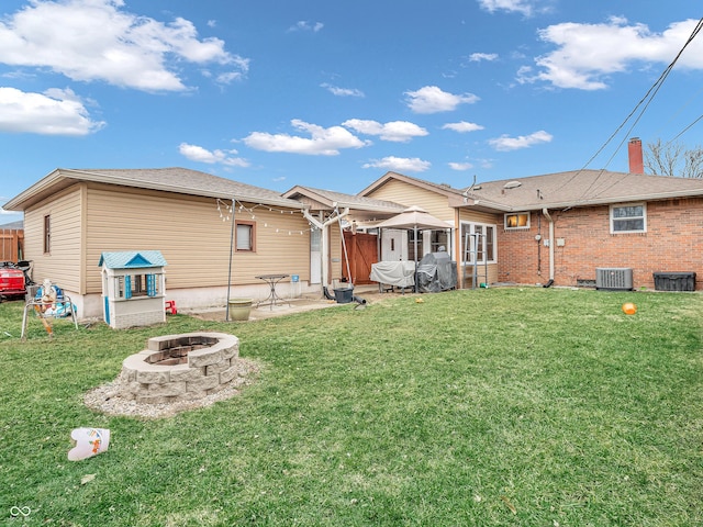
<instances>
[{"instance_id":1,"label":"pale gravel ring around the base of the stone fire pit","mask_svg":"<svg viewBox=\"0 0 703 527\"><path fill-rule=\"evenodd\" d=\"M243 377L233 379L231 385L223 390L193 401L174 401L170 403L148 404L137 403L134 400L122 397L120 396L120 393L124 393L129 381L125 375L121 373L114 381L89 391L85 395L83 402L89 408L108 415L121 415L145 419L172 417L180 412L211 406L217 401L231 399L239 394L242 389L252 384L261 369L260 366L253 360L242 358L236 360L243 370Z\"/></svg>"}]
</instances>

